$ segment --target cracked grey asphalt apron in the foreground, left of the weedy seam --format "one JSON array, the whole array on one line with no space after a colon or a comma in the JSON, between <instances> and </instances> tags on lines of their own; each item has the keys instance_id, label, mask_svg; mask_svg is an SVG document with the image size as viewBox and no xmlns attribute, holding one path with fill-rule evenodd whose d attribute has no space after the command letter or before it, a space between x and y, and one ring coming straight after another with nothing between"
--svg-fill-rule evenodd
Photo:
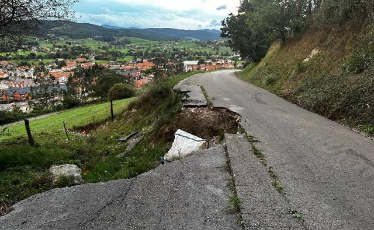
<instances>
[{"instance_id":1,"label":"cracked grey asphalt apron in the foreground, left of the weedy seam","mask_svg":"<svg viewBox=\"0 0 374 230\"><path fill-rule=\"evenodd\" d=\"M241 229L225 212L225 165L212 148L132 179L54 189L14 205L0 229Z\"/></svg>"}]
</instances>

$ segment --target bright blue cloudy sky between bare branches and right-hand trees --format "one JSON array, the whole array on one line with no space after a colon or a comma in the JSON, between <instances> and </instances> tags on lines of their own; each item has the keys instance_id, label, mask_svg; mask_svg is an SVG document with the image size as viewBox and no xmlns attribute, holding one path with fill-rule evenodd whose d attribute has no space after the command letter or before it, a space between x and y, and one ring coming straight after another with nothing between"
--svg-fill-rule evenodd
<instances>
[{"instance_id":1,"label":"bright blue cloudy sky between bare branches and right-hand trees","mask_svg":"<svg viewBox=\"0 0 374 230\"><path fill-rule=\"evenodd\" d=\"M138 28L219 29L240 0L82 0L78 22Z\"/></svg>"}]
</instances>

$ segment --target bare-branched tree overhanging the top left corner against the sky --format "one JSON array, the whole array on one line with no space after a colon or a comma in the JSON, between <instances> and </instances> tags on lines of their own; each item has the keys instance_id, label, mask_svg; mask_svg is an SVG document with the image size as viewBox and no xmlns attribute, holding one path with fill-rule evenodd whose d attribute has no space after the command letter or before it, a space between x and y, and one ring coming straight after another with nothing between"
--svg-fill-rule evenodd
<instances>
[{"instance_id":1,"label":"bare-branched tree overhanging the top left corner against the sky","mask_svg":"<svg viewBox=\"0 0 374 230\"><path fill-rule=\"evenodd\" d=\"M73 4L80 0L0 0L0 38L15 41L44 29L45 20L71 21ZM46 23L48 24L48 23Z\"/></svg>"}]
</instances>

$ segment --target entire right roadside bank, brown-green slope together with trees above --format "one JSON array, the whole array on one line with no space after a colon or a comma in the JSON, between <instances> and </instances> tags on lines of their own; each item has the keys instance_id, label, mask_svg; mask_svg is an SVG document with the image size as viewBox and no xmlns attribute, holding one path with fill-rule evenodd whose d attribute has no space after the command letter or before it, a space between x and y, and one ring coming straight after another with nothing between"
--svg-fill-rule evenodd
<instances>
[{"instance_id":1,"label":"entire right roadside bank, brown-green slope together with trees above","mask_svg":"<svg viewBox=\"0 0 374 230\"><path fill-rule=\"evenodd\" d=\"M374 134L374 2L249 1L221 29L245 81Z\"/></svg>"}]
</instances>

